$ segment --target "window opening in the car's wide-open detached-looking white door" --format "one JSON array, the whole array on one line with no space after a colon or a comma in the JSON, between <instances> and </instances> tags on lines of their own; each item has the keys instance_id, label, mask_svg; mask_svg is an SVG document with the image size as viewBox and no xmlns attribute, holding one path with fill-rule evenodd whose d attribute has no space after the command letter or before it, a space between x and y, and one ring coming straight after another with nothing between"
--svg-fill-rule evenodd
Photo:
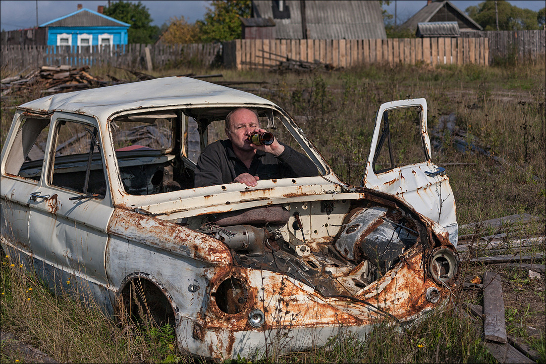
<instances>
[{"instance_id":1,"label":"window opening in the car's wide-open detached-looking white door","mask_svg":"<svg viewBox=\"0 0 546 364\"><path fill-rule=\"evenodd\" d=\"M421 133L422 112L418 106L385 110L373 155L373 171L387 172L430 159Z\"/></svg>"}]
</instances>

